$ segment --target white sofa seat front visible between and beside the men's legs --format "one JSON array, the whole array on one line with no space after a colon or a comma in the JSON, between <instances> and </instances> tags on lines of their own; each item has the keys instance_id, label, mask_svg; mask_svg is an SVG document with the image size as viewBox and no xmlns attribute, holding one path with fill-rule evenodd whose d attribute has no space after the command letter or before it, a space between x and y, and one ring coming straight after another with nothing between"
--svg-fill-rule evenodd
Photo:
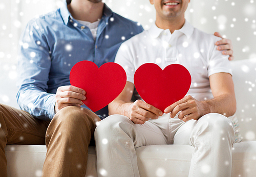
<instances>
[{"instance_id":1,"label":"white sofa seat front visible between and beside the men's legs","mask_svg":"<svg viewBox=\"0 0 256 177\"><path fill-rule=\"evenodd\" d=\"M9 177L41 176L45 161L44 145L7 145ZM136 148L140 176L188 176L194 147L152 145ZM236 143L232 149L232 176L256 174L256 141ZM95 147L89 147L86 176L97 176Z\"/></svg>"}]
</instances>

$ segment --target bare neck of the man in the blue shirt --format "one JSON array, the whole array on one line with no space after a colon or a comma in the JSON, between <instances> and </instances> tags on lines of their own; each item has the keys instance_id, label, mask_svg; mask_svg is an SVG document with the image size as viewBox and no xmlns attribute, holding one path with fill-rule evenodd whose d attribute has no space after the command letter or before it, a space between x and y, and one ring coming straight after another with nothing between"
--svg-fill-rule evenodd
<instances>
[{"instance_id":1,"label":"bare neck of the man in the blue shirt","mask_svg":"<svg viewBox=\"0 0 256 177\"><path fill-rule=\"evenodd\" d=\"M93 23L102 17L104 3L92 3L84 0L72 0L68 5L73 18Z\"/></svg>"}]
</instances>

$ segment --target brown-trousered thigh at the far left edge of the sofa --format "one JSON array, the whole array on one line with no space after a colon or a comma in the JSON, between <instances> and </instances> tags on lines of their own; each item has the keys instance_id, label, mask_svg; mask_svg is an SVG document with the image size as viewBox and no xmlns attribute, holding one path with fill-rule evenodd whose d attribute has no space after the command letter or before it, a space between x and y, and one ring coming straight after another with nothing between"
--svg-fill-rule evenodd
<instances>
[{"instance_id":1,"label":"brown-trousered thigh at the far left edge of the sofa","mask_svg":"<svg viewBox=\"0 0 256 177\"><path fill-rule=\"evenodd\" d=\"M45 144L49 122L32 117L29 113L0 104L0 121L7 144Z\"/></svg>"}]
</instances>

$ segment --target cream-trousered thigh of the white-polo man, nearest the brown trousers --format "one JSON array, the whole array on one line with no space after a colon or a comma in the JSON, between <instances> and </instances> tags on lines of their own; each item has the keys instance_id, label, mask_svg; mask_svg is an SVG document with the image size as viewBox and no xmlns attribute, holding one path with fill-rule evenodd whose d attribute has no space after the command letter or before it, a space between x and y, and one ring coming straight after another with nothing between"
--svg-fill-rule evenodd
<instances>
[{"instance_id":1,"label":"cream-trousered thigh of the white-polo man, nearest the brown trousers","mask_svg":"<svg viewBox=\"0 0 256 177\"><path fill-rule=\"evenodd\" d=\"M135 148L167 144L163 131L155 123L146 121L142 125L135 124L128 117L122 115L112 115L100 121L96 128L96 140L104 139L109 141L123 140L124 143L132 140Z\"/></svg>"}]
</instances>

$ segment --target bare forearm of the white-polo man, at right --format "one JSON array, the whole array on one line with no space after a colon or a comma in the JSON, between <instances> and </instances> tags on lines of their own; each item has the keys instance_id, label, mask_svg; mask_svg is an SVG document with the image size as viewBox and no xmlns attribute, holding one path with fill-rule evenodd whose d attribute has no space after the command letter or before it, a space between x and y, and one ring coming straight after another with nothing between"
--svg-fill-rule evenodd
<instances>
[{"instance_id":1,"label":"bare forearm of the white-polo man, at right","mask_svg":"<svg viewBox=\"0 0 256 177\"><path fill-rule=\"evenodd\" d=\"M236 113L237 103L233 94L219 95L211 100L201 101L203 115L208 113L219 113L226 117Z\"/></svg>"}]
</instances>

